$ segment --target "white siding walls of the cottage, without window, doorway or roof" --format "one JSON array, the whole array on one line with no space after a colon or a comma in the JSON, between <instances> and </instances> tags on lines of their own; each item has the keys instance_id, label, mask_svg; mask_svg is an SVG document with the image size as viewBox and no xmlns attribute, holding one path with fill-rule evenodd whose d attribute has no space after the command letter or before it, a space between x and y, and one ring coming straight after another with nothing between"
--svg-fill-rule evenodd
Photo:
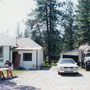
<instances>
[{"instance_id":1,"label":"white siding walls of the cottage, without window, doorway or roof","mask_svg":"<svg viewBox=\"0 0 90 90\"><path fill-rule=\"evenodd\" d=\"M38 54L36 54L37 52ZM32 61L23 61L23 53L32 53ZM21 54L20 67L23 67L25 69L36 69L37 67L40 67L43 63L43 50L18 51L18 54ZM4 65L6 60L9 59L12 62L12 51L10 51L9 46L3 46L3 61L0 61L0 66Z\"/></svg>"}]
</instances>

